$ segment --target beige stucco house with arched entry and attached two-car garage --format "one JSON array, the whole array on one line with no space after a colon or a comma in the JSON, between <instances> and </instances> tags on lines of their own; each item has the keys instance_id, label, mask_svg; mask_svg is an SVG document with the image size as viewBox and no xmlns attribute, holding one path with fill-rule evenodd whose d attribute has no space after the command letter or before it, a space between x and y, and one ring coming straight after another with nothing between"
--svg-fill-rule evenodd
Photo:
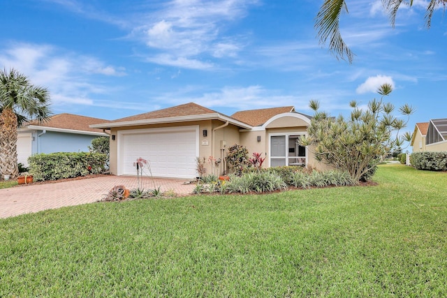
<instances>
[{"instance_id":1,"label":"beige stucco house with arched entry and attached two-car garage","mask_svg":"<svg viewBox=\"0 0 447 298\"><path fill-rule=\"evenodd\" d=\"M249 110L229 117L196 103L186 103L163 110L91 125L110 130L110 172L135 175L137 158L150 163L154 177L194 178L196 158L213 156L220 160L214 174L226 170L228 147L241 144L267 156L265 166L312 165L325 167L314 160L309 149L297 144L307 134L309 116L294 107ZM207 165L207 173L211 173Z\"/></svg>"}]
</instances>

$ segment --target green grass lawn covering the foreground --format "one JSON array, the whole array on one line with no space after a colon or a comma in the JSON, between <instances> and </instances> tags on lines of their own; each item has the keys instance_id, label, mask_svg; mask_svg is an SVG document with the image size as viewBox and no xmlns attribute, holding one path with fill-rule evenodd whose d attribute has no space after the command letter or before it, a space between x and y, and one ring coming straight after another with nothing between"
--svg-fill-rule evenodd
<instances>
[{"instance_id":1,"label":"green grass lawn covering the foreground","mask_svg":"<svg viewBox=\"0 0 447 298\"><path fill-rule=\"evenodd\" d=\"M0 220L0 297L442 297L447 173Z\"/></svg>"}]
</instances>

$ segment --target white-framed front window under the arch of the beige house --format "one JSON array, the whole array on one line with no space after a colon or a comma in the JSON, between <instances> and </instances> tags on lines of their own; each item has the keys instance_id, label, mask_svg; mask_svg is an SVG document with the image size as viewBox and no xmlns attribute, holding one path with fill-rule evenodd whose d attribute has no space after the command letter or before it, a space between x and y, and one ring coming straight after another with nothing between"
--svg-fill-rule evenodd
<instances>
[{"instance_id":1,"label":"white-framed front window under the arch of the beige house","mask_svg":"<svg viewBox=\"0 0 447 298\"><path fill-rule=\"evenodd\" d=\"M299 134L270 136L270 167L306 165L307 149L298 144Z\"/></svg>"}]
</instances>

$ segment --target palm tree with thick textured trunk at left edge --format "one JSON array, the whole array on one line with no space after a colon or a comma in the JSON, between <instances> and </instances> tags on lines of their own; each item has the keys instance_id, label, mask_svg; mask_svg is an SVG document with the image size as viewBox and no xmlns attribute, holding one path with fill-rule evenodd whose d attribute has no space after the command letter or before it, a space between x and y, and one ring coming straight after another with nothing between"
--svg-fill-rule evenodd
<instances>
[{"instance_id":1,"label":"palm tree with thick textured trunk at left edge","mask_svg":"<svg viewBox=\"0 0 447 298\"><path fill-rule=\"evenodd\" d=\"M11 69L0 70L0 172L17 177L17 128L30 119L50 117L47 89L29 83L28 77Z\"/></svg>"}]
</instances>

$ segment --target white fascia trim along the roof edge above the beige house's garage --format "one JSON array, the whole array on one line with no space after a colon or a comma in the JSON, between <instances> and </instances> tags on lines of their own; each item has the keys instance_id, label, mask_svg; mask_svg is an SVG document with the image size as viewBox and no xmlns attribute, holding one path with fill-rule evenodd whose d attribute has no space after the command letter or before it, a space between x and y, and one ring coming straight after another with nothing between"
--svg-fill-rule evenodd
<instances>
[{"instance_id":1,"label":"white fascia trim along the roof edge above the beige house's garage","mask_svg":"<svg viewBox=\"0 0 447 298\"><path fill-rule=\"evenodd\" d=\"M143 120L134 120L134 121L122 121L122 122L114 122L114 123L104 123L104 124L92 124L91 128L112 128L112 127L123 127L123 126L139 126L139 125L147 125L147 124L166 124L166 123L175 123L175 122L187 122L187 121L200 121L200 120L214 120L219 119L222 121L229 121L230 124L234 124L236 126L240 126L243 128L251 128L248 124L244 124L243 122L237 121L235 119L231 119L230 117L223 116L219 113L212 114L199 114L199 115L189 115L189 116L178 116L178 117L167 117L167 118L157 118L157 119L143 119Z\"/></svg>"}]
</instances>

